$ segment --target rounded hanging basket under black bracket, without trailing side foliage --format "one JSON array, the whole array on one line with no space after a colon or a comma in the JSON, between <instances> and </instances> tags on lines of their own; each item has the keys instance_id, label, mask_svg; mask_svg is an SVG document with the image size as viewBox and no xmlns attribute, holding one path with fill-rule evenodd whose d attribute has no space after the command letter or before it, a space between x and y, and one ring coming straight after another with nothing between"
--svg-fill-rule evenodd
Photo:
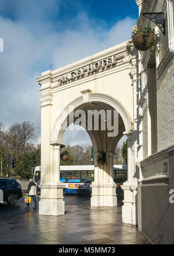
<instances>
[{"instance_id":1,"label":"rounded hanging basket under black bracket, without trailing side foliage","mask_svg":"<svg viewBox=\"0 0 174 256\"><path fill-rule=\"evenodd\" d=\"M149 33L148 37L144 37L143 32L139 32L132 37L132 42L135 48L139 51L146 51L153 47L155 43L155 35L154 33Z\"/></svg>"}]
</instances>

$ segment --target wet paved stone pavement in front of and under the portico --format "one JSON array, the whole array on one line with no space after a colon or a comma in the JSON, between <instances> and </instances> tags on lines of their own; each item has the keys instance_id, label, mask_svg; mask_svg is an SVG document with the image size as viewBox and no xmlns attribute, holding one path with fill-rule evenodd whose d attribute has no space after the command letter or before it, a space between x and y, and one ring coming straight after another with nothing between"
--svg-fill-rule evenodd
<instances>
[{"instance_id":1,"label":"wet paved stone pavement in front of and under the portico","mask_svg":"<svg viewBox=\"0 0 174 256\"><path fill-rule=\"evenodd\" d=\"M39 197L37 197L39 201ZM90 196L66 195L65 214L39 215L16 205L0 204L0 244L151 244L136 226L121 223L118 207L90 207Z\"/></svg>"}]
</instances>

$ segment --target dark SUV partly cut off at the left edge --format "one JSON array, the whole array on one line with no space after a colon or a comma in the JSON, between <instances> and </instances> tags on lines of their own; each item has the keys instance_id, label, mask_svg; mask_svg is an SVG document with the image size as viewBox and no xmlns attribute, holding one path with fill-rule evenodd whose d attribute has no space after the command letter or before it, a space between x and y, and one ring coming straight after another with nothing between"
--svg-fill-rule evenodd
<instances>
[{"instance_id":1,"label":"dark SUV partly cut off at the left edge","mask_svg":"<svg viewBox=\"0 0 174 256\"><path fill-rule=\"evenodd\" d=\"M17 200L23 197L21 185L13 179L0 178L0 190L3 191L3 201L10 205L16 204Z\"/></svg>"}]
</instances>

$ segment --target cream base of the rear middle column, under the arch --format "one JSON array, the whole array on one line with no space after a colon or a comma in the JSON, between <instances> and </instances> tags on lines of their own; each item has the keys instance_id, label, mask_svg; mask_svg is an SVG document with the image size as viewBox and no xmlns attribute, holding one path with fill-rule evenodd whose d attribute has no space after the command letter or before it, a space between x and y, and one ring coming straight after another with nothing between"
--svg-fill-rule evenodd
<instances>
[{"instance_id":1,"label":"cream base of the rear middle column, under the arch","mask_svg":"<svg viewBox=\"0 0 174 256\"><path fill-rule=\"evenodd\" d=\"M115 183L93 183L90 205L91 207L116 207L117 197Z\"/></svg>"}]
</instances>

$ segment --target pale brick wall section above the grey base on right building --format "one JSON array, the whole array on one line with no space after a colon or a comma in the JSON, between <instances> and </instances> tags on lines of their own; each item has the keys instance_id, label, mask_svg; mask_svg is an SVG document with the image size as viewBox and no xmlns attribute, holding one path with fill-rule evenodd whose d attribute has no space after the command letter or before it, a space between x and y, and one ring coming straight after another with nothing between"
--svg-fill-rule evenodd
<instances>
[{"instance_id":1,"label":"pale brick wall section above the grey base on right building","mask_svg":"<svg viewBox=\"0 0 174 256\"><path fill-rule=\"evenodd\" d=\"M157 80L157 150L174 144L174 56Z\"/></svg>"}]
</instances>

